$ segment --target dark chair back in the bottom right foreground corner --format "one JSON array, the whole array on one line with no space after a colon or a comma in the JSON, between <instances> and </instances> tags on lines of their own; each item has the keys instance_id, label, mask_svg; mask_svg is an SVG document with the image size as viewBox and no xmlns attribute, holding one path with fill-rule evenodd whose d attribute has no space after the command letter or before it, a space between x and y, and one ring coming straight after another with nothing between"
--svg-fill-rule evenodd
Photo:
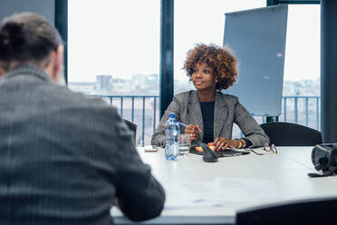
<instances>
[{"instance_id":1,"label":"dark chair back in the bottom right foreground corner","mask_svg":"<svg viewBox=\"0 0 337 225\"><path fill-rule=\"evenodd\" d=\"M337 197L288 201L239 210L236 225L336 224L336 209Z\"/></svg>"}]
</instances>

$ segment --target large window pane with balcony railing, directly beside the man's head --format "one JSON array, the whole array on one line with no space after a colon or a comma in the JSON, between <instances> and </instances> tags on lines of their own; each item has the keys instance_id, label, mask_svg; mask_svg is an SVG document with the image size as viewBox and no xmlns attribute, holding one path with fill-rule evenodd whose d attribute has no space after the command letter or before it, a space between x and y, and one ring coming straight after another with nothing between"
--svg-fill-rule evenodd
<instances>
[{"instance_id":1,"label":"large window pane with balcony railing, directly beside the man's head","mask_svg":"<svg viewBox=\"0 0 337 225\"><path fill-rule=\"evenodd\" d=\"M138 125L137 142L149 142L158 120L159 99L149 96L159 95L160 1L71 0L68 11L69 87L112 96L105 99Z\"/></svg>"}]
</instances>

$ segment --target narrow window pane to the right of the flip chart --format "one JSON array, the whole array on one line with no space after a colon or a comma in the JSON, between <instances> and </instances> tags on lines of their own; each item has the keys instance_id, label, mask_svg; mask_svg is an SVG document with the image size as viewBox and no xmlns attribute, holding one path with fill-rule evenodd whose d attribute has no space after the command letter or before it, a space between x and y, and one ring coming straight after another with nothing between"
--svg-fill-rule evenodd
<instances>
[{"instance_id":1,"label":"narrow window pane to the right of the flip chart","mask_svg":"<svg viewBox=\"0 0 337 225\"><path fill-rule=\"evenodd\" d=\"M321 6L289 5L280 121L320 130ZM291 97L290 97L291 96Z\"/></svg>"}]
</instances>

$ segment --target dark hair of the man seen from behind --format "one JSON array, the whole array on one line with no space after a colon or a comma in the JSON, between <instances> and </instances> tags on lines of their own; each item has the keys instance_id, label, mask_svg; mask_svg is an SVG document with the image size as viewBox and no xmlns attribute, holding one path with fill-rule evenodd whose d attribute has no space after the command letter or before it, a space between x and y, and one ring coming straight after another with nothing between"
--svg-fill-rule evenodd
<instances>
[{"instance_id":1,"label":"dark hair of the man seen from behind","mask_svg":"<svg viewBox=\"0 0 337 225\"><path fill-rule=\"evenodd\" d=\"M39 15L10 15L0 25L0 63L42 64L60 44L53 25Z\"/></svg>"}]
</instances>

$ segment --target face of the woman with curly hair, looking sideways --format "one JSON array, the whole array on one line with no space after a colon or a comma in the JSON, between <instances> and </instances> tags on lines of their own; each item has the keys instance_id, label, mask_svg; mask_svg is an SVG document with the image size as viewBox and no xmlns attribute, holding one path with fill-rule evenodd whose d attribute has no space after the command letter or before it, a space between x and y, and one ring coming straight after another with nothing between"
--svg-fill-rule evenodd
<instances>
[{"instance_id":1,"label":"face of the woman with curly hair, looking sideways","mask_svg":"<svg viewBox=\"0 0 337 225\"><path fill-rule=\"evenodd\" d=\"M212 68L205 63L196 65L195 71L192 73L192 82L197 91L214 92L216 90L216 80Z\"/></svg>"}]
</instances>

